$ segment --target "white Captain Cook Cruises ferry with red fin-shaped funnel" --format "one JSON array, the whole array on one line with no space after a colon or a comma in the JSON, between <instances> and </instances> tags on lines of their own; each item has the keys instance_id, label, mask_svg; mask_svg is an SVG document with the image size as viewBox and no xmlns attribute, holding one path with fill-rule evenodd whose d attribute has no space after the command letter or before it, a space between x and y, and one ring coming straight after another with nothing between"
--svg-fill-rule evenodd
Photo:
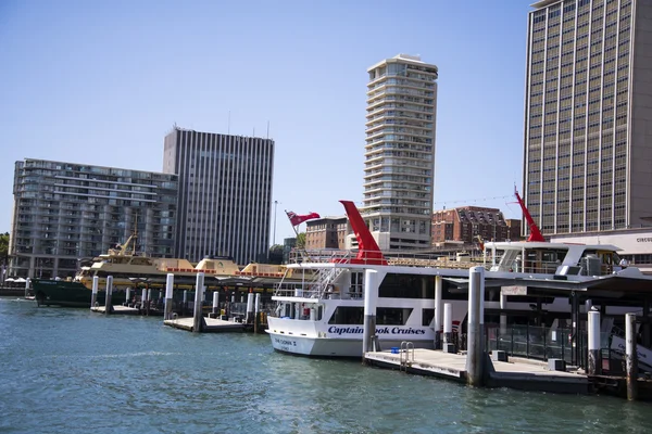
<instances>
[{"instance_id":1,"label":"white Captain Cook Cruises ferry with red fin-shaped funnel","mask_svg":"<svg viewBox=\"0 0 652 434\"><path fill-rule=\"evenodd\" d=\"M304 356L360 357L364 271L367 269L376 270L380 280L376 336L381 349L398 347L403 341L412 342L415 347L434 347L435 281L438 276L442 280L442 302L452 305L453 333L459 331L467 314L468 269L441 268L434 258L414 258L412 261L405 257L386 258L355 205L340 202L358 238L359 251L310 253L288 265L294 279L301 271L306 275L301 283L281 281L272 297L277 303L275 314L267 317L267 333L273 347ZM617 251L613 245L486 243L486 288L502 289L503 293L511 294L515 301L506 308L513 311L531 310L528 290L559 289L560 296L541 297L538 307L549 312L567 314L572 291L588 288L606 291L634 282L652 284L652 279L639 269L620 261ZM467 263L467 266L474 264ZM496 293L485 292L486 311L500 310ZM500 297L500 291L498 293ZM631 311L631 308L625 311Z\"/></svg>"}]
</instances>

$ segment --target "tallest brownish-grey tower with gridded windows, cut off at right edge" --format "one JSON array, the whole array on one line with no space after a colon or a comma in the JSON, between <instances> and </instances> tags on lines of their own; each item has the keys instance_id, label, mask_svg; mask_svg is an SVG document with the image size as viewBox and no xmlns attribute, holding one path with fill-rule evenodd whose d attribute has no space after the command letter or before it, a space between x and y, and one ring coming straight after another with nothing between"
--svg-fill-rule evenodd
<instances>
[{"instance_id":1,"label":"tallest brownish-grey tower with gridded windows, cut off at right edge","mask_svg":"<svg viewBox=\"0 0 652 434\"><path fill-rule=\"evenodd\" d=\"M652 216L652 3L532 7L524 157L530 214L544 234L643 224Z\"/></svg>"}]
</instances>

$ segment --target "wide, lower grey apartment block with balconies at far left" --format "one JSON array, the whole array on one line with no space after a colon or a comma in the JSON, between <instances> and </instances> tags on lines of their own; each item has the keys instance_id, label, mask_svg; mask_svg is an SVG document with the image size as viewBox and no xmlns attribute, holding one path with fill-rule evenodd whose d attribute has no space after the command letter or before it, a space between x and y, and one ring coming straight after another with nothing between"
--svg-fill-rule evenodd
<instances>
[{"instance_id":1,"label":"wide, lower grey apartment block with balconies at far left","mask_svg":"<svg viewBox=\"0 0 652 434\"><path fill-rule=\"evenodd\" d=\"M74 276L138 231L137 252L173 256L177 177L26 158L15 164L10 275Z\"/></svg>"}]
</instances>

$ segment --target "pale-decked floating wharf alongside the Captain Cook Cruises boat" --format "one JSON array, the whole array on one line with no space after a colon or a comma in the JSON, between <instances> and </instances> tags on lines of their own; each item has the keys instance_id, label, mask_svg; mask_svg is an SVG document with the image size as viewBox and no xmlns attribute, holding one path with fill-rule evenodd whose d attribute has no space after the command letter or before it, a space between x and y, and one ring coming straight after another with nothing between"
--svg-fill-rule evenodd
<instances>
[{"instance_id":1,"label":"pale-decked floating wharf alongside the Captain Cook Cruises boat","mask_svg":"<svg viewBox=\"0 0 652 434\"><path fill-rule=\"evenodd\" d=\"M442 350L415 348L406 354L391 352L366 353L365 360L379 368L399 369L408 373L438 376L466 382L466 355ZM488 387L510 387L527 391L588 394L590 383L587 375L566 371L550 371L543 362L512 358L510 361L491 360L485 357Z\"/></svg>"}]
</instances>

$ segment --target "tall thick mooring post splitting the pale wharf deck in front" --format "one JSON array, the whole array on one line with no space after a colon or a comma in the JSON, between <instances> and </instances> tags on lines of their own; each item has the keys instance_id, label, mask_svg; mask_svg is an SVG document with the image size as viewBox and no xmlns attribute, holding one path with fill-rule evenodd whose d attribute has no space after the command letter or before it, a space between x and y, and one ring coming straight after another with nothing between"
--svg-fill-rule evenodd
<instances>
[{"instance_id":1,"label":"tall thick mooring post splitting the pale wharf deck in front","mask_svg":"<svg viewBox=\"0 0 652 434\"><path fill-rule=\"evenodd\" d=\"M472 386L482 385L482 267L468 270L468 332L466 341L466 382Z\"/></svg>"}]
</instances>

